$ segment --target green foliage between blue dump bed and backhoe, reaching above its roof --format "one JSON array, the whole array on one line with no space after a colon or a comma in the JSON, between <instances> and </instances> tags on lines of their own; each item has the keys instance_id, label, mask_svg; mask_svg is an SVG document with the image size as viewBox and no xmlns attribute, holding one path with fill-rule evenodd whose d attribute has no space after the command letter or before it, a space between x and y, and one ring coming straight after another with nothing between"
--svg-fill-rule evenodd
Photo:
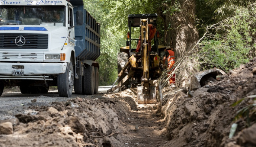
<instances>
[{"instance_id":1,"label":"green foliage between blue dump bed and backhoe, reaching above its roof","mask_svg":"<svg viewBox=\"0 0 256 147\"><path fill-rule=\"evenodd\" d=\"M125 46L128 14L156 13L161 1L155 0L84 0L85 9L101 24L99 84L112 85L117 78L117 53ZM139 38L138 33L133 34ZM136 45L134 45L136 46Z\"/></svg>"}]
</instances>

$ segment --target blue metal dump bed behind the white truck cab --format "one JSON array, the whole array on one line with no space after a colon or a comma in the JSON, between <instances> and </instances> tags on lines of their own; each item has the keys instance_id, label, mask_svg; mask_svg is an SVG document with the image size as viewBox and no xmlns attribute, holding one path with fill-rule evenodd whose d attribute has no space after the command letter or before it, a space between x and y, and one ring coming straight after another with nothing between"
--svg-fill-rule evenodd
<instances>
[{"instance_id":1,"label":"blue metal dump bed behind the white truck cab","mask_svg":"<svg viewBox=\"0 0 256 147\"><path fill-rule=\"evenodd\" d=\"M80 60L96 60L100 55L100 24L83 8L82 0L70 0L70 3L77 6L74 16L77 10L83 11L84 21L83 25L75 26L75 56Z\"/></svg>"}]
</instances>

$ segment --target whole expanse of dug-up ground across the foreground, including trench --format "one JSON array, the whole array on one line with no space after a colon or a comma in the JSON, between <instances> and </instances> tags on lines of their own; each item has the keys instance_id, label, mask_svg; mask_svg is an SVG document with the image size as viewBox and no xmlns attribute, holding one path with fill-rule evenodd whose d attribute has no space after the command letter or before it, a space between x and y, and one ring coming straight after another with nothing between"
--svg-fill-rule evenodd
<instances>
[{"instance_id":1,"label":"whole expanse of dug-up ground across the foreground, including trench","mask_svg":"<svg viewBox=\"0 0 256 147\"><path fill-rule=\"evenodd\" d=\"M205 81L192 91L194 97L188 97L187 88L167 87L163 103L154 105L138 105L135 89L72 98L56 92L33 97L5 92L0 120L8 122L0 121L0 147L256 146L255 101L242 100L256 95L254 68L256 58L218 81ZM10 95L22 102L13 100L11 105ZM238 116L237 111L249 104L249 117ZM229 138L233 123L237 129Z\"/></svg>"}]
</instances>

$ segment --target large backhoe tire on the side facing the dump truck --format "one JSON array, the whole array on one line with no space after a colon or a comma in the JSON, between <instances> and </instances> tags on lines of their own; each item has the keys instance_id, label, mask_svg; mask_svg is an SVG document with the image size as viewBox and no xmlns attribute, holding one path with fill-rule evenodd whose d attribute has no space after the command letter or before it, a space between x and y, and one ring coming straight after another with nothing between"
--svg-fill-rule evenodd
<instances>
[{"instance_id":1,"label":"large backhoe tire on the side facing the dump truck","mask_svg":"<svg viewBox=\"0 0 256 147\"><path fill-rule=\"evenodd\" d=\"M124 52L119 52L117 54L117 71L118 71L118 74L121 72L121 70L124 68L124 65L126 62L128 62L128 58L129 58L129 55L128 53L124 53ZM121 77L119 77L118 79L118 83L127 75L129 71L129 67L127 67L127 69L125 70L125 73L123 73L121 75ZM125 89L128 88L128 83L129 81L126 80L123 85L121 87L118 88L118 91L123 91Z\"/></svg>"}]
</instances>

